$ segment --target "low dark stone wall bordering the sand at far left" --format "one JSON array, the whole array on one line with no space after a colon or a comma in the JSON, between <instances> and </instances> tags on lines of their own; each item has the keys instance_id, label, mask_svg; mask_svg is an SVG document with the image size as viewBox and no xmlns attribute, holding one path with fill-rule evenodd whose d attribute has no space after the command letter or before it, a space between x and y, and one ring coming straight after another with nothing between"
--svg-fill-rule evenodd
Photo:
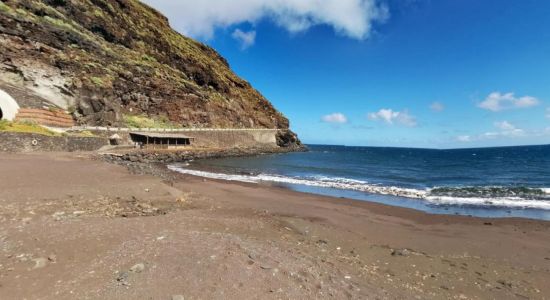
<instances>
[{"instance_id":1,"label":"low dark stone wall bordering the sand at far left","mask_svg":"<svg viewBox=\"0 0 550 300\"><path fill-rule=\"evenodd\" d=\"M0 132L0 152L95 151L108 143L106 138L101 137Z\"/></svg>"}]
</instances>

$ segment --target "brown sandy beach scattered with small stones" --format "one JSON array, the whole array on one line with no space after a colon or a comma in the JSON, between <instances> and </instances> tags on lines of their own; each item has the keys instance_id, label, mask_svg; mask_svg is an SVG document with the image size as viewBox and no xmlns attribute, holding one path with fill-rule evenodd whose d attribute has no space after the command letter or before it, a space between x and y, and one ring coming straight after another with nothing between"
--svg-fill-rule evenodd
<instances>
[{"instance_id":1,"label":"brown sandy beach scattered with small stones","mask_svg":"<svg viewBox=\"0 0 550 300\"><path fill-rule=\"evenodd\" d=\"M550 298L547 221L151 168L2 154L1 298Z\"/></svg>"}]
</instances>

